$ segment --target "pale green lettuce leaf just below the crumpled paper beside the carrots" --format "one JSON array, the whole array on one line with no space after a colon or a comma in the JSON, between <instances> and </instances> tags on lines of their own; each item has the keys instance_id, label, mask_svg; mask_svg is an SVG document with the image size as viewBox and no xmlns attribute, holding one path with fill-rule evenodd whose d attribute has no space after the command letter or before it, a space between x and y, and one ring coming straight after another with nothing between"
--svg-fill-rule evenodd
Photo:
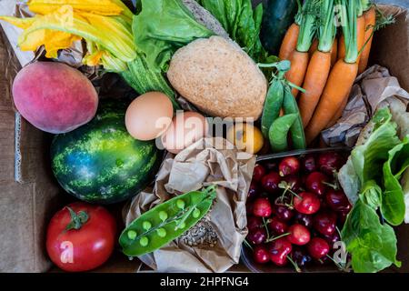
<instances>
[{"instance_id":1,"label":"pale green lettuce leaf just below the crumpled paper beside the carrots","mask_svg":"<svg viewBox=\"0 0 409 291\"><path fill-rule=\"evenodd\" d=\"M392 115L388 108L378 110L372 123L374 123L373 133L364 145L356 146L351 155L361 185L370 180L381 185L383 180L382 168L388 160L388 152L401 143L396 135L396 124L392 121Z\"/></svg>"}]
</instances>

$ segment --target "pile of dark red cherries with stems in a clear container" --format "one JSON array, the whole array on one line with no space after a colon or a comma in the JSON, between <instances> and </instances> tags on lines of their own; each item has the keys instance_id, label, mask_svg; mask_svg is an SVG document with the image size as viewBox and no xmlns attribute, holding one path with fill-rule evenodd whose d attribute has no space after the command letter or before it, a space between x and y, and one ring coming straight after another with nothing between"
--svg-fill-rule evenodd
<instances>
[{"instance_id":1,"label":"pile of dark red cherries with stems in a clear container","mask_svg":"<svg viewBox=\"0 0 409 291\"><path fill-rule=\"evenodd\" d=\"M334 243L352 206L336 174L345 158L336 152L288 156L254 168L247 199L246 244L254 262L297 271L331 262Z\"/></svg>"}]
</instances>

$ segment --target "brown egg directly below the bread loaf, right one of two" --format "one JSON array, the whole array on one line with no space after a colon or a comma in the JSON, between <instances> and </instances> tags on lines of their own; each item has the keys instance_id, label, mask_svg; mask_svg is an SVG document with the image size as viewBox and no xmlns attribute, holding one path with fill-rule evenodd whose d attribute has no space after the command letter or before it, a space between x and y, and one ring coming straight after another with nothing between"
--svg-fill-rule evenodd
<instances>
[{"instance_id":1,"label":"brown egg directly below the bread loaf, right one of two","mask_svg":"<svg viewBox=\"0 0 409 291\"><path fill-rule=\"evenodd\" d=\"M172 125L162 135L162 144L172 154L179 154L187 146L205 137L209 125L204 115L196 112L182 112L175 115Z\"/></svg>"}]
</instances>

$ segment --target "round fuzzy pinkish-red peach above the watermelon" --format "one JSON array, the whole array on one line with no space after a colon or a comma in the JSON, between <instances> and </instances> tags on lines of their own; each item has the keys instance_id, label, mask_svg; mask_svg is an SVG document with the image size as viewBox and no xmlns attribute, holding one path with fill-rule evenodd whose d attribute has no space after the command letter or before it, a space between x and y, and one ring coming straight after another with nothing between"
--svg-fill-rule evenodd
<instances>
[{"instance_id":1,"label":"round fuzzy pinkish-red peach above the watermelon","mask_svg":"<svg viewBox=\"0 0 409 291\"><path fill-rule=\"evenodd\" d=\"M85 125L98 106L98 95L85 75L55 62L26 65L15 76L13 97L29 123L52 134Z\"/></svg>"}]
</instances>

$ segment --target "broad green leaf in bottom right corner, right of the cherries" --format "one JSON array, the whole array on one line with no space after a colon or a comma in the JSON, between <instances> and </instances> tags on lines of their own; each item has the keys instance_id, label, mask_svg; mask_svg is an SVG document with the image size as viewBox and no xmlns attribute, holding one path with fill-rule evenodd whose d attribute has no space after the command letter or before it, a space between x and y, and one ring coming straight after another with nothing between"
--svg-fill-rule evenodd
<instances>
[{"instance_id":1,"label":"broad green leaf in bottom right corner, right of the cherries","mask_svg":"<svg viewBox=\"0 0 409 291\"><path fill-rule=\"evenodd\" d=\"M374 208L367 206L362 196L348 215L342 238L352 255L352 266L356 273L374 273L394 264L397 246L394 229L381 224Z\"/></svg>"}]
</instances>

